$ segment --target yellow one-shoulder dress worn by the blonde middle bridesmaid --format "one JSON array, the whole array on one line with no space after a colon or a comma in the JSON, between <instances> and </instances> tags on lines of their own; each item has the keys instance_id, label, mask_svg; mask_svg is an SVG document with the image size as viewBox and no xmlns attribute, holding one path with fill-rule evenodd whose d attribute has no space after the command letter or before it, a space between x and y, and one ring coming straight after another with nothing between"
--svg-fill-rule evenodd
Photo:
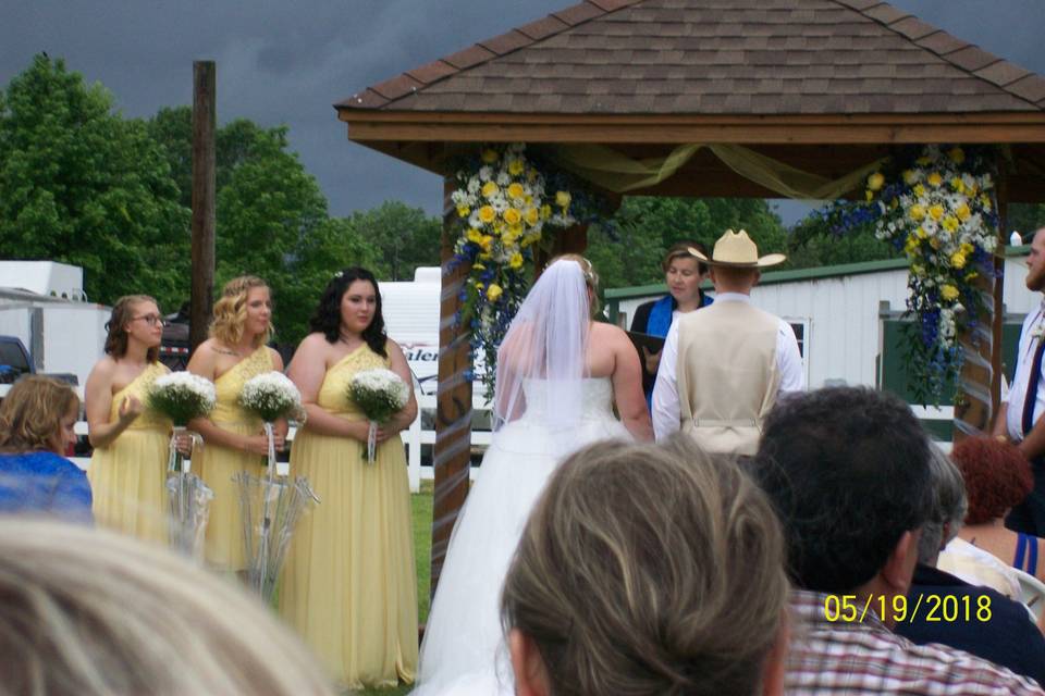
<instances>
[{"instance_id":1,"label":"yellow one-shoulder dress worn by the blonde middle bridesmaid","mask_svg":"<svg viewBox=\"0 0 1045 696\"><path fill-rule=\"evenodd\" d=\"M239 394L248 380L271 372L272 369L272 353L267 346L261 346L214 380L218 400L214 410L210 412L211 422L223 431L238 435L260 433L261 419L243 410L239 406ZM266 458L260 455L206 442L202 450L193 457L193 471L214 492L214 499L210 502L204 551L209 566L233 571L246 569L239 487L232 477L241 471L260 476L266 463Z\"/></svg>"}]
</instances>

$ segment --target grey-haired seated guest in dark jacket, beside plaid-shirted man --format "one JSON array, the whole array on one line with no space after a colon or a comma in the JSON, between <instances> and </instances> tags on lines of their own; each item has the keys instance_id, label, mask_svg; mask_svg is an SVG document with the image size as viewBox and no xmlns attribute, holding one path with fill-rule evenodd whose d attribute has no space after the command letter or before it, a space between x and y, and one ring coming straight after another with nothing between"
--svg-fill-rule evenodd
<instances>
[{"instance_id":1,"label":"grey-haired seated guest in dark jacket, beside plaid-shirted man","mask_svg":"<svg viewBox=\"0 0 1045 696\"><path fill-rule=\"evenodd\" d=\"M897 622L897 634L919 645L949 645L1045 683L1045 636L1031 622L1026 607L935 568L941 546L958 533L967 506L961 472L935 446L930 469L934 484L933 506L918 542L918 566L907 594L907 606L936 607L935 617L944 620L934 621L929 611L911 612L913 616ZM961 610L946 614L946 606L941 609L939 605L948 601L954 602L952 608ZM967 606L976 611L982 607L989 608L989 619L982 621L987 614L978 614L976 611L966 616L963 608ZM954 620L946 620L948 618Z\"/></svg>"}]
</instances>

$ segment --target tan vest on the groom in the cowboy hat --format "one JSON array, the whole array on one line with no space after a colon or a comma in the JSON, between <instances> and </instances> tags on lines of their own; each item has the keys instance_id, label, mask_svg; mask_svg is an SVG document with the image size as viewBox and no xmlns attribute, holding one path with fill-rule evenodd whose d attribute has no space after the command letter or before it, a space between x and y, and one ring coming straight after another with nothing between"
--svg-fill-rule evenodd
<instances>
[{"instance_id":1,"label":"tan vest on the groom in the cowboy hat","mask_svg":"<svg viewBox=\"0 0 1045 696\"><path fill-rule=\"evenodd\" d=\"M681 430L711 452L753 455L780 385L779 320L720 301L678 319Z\"/></svg>"}]
</instances>

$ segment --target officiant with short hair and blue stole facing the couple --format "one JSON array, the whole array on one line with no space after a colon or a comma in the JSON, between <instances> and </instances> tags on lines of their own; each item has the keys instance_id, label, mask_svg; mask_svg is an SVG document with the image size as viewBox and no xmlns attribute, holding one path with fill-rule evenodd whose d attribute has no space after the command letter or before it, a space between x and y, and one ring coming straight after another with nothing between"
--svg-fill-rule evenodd
<instances>
[{"instance_id":1,"label":"officiant with short hair and blue stole facing the couple","mask_svg":"<svg viewBox=\"0 0 1045 696\"><path fill-rule=\"evenodd\" d=\"M631 320L631 331L664 338L679 314L708 307L714 301L700 289L700 285L708 277L708 265L689 252L690 247L708 256L708 248L699 241L679 241L673 245L661 262L667 295L639 304L635 310L635 319ZM646 405L649 407L653 384L656 382L656 370L661 364L661 351L650 352L643 347L642 357L642 391L646 393Z\"/></svg>"}]
</instances>

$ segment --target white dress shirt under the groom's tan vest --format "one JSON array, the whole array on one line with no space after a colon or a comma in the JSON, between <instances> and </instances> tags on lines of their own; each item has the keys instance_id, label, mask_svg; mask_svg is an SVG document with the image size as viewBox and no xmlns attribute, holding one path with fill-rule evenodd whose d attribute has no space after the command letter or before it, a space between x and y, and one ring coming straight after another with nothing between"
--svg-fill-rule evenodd
<instances>
[{"instance_id":1,"label":"white dress shirt under the groom's tan vest","mask_svg":"<svg viewBox=\"0 0 1045 696\"><path fill-rule=\"evenodd\" d=\"M718 302L748 302L751 298L741 293L717 293L715 303ZM780 386L777 398L791 391L806 389L806 373L802 370L802 357L798 352L798 340L791 325L783 319L776 333L776 369L780 375ZM676 363L678 362L678 322L672 322L664 339L664 350L661 353L661 366L656 371L656 382L653 385L653 434L656 439L664 439L681 427L680 409L678 402L678 381L676 378Z\"/></svg>"}]
</instances>

